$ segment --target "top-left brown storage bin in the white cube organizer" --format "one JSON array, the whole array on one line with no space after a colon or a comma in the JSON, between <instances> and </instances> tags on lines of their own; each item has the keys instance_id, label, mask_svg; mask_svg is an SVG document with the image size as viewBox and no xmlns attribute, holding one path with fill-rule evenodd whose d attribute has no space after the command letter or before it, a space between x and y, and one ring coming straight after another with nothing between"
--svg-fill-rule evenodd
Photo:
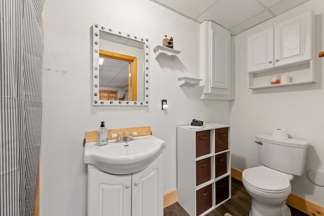
<instances>
[{"instance_id":1,"label":"top-left brown storage bin in the white cube organizer","mask_svg":"<svg viewBox=\"0 0 324 216\"><path fill-rule=\"evenodd\" d=\"M211 153L211 131L196 132L196 157Z\"/></svg>"}]
</instances>

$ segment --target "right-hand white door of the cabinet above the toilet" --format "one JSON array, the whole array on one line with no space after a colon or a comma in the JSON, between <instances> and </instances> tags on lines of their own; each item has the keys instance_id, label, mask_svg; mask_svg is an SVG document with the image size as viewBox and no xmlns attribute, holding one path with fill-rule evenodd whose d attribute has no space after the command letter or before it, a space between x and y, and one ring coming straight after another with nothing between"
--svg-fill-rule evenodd
<instances>
[{"instance_id":1,"label":"right-hand white door of the cabinet above the toilet","mask_svg":"<svg viewBox=\"0 0 324 216\"><path fill-rule=\"evenodd\" d=\"M311 12L274 26L274 66L311 59Z\"/></svg>"}]
</instances>

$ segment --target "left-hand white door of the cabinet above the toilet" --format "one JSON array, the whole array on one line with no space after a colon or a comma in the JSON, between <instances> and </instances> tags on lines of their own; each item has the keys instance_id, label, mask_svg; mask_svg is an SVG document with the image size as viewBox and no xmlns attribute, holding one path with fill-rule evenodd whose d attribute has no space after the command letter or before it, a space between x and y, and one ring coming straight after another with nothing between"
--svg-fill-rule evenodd
<instances>
[{"instance_id":1,"label":"left-hand white door of the cabinet above the toilet","mask_svg":"<svg viewBox=\"0 0 324 216\"><path fill-rule=\"evenodd\" d=\"M248 38L248 72L273 67L273 27Z\"/></svg>"}]
</instances>

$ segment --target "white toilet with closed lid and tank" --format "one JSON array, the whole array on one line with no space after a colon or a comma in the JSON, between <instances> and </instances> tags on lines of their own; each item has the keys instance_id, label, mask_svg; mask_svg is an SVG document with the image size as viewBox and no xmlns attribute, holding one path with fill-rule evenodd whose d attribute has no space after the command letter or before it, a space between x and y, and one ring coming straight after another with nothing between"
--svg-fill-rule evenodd
<instances>
[{"instance_id":1,"label":"white toilet with closed lid and tank","mask_svg":"<svg viewBox=\"0 0 324 216\"><path fill-rule=\"evenodd\" d=\"M291 216L286 205L290 182L304 173L308 142L256 136L262 166L242 172L242 182L252 197L250 216Z\"/></svg>"}]
</instances>

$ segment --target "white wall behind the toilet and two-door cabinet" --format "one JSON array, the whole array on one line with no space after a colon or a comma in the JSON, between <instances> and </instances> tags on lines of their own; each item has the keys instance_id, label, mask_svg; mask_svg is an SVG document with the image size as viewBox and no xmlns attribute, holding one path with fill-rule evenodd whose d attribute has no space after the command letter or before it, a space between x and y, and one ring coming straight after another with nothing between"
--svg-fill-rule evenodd
<instances>
[{"instance_id":1,"label":"white wall behind the toilet and two-door cabinet","mask_svg":"<svg viewBox=\"0 0 324 216\"><path fill-rule=\"evenodd\" d=\"M274 24L312 9L316 14L317 82L270 89L249 90L247 76L247 37ZM324 187L314 185L307 178L307 171L324 171L323 137L323 69L324 58L318 52L324 50L324 3L311 0L289 12L259 24L235 36L235 100L231 104L230 141L232 167L244 170L260 165L254 136L271 134L271 128L288 129L295 139L308 140L305 174L292 181L292 193L324 205Z\"/></svg>"}]
</instances>

